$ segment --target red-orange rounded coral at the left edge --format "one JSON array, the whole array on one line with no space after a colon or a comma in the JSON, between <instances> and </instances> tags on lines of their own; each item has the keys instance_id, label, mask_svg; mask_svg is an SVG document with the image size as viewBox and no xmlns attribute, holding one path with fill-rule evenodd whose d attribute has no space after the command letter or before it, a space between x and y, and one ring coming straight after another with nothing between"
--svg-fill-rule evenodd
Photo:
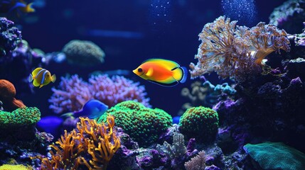
<instances>
[{"instance_id":1,"label":"red-orange rounded coral at the left edge","mask_svg":"<svg viewBox=\"0 0 305 170\"><path fill-rule=\"evenodd\" d=\"M0 79L0 101L2 101L4 109L14 111L16 108L25 108L22 101L17 100L16 89L14 84L5 79Z\"/></svg>"}]
</instances>

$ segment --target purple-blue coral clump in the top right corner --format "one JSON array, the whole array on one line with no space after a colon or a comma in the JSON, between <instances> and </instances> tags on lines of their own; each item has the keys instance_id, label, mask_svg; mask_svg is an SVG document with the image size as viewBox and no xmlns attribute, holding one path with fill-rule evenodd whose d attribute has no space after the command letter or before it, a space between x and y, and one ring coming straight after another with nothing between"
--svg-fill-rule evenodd
<instances>
[{"instance_id":1,"label":"purple-blue coral clump in the top right corner","mask_svg":"<svg viewBox=\"0 0 305 170\"><path fill-rule=\"evenodd\" d=\"M287 33L299 33L302 29L300 21L305 19L304 9L304 0L285 1L281 6L274 8L269 16L269 23L285 29Z\"/></svg>"}]
</instances>

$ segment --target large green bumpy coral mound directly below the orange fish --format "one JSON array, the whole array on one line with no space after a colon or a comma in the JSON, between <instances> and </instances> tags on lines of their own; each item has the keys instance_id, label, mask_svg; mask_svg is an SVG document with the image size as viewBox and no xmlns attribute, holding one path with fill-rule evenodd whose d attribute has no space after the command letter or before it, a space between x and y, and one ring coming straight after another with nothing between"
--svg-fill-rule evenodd
<instances>
[{"instance_id":1,"label":"large green bumpy coral mound directly below the orange fish","mask_svg":"<svg viewBox=\"0 0 305 170\"><path fill-rule=\"evenodd\" d=\"M115 125L138 142L140 147L147 147L156 142L172 125L171 115L159 108L146 108L136 101L118 103L97 118L97 122L105 122L107 114L114 115Z\"/></svg>"}]
</instances>

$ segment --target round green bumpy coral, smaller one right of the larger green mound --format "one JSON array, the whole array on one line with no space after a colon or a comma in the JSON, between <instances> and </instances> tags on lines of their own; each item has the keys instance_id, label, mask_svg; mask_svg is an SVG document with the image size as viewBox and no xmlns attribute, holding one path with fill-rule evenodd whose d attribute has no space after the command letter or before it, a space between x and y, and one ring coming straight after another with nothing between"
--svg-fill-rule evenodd
<instances>
[{"instance_id":1,"label":"round green bumpy coral, smaller one right of the larger green mound","mask_svg":"<svg viewBox=\"0 0 305 170\"><path fill-rule=\"evenodd\" d=\"M218 113L203 106L188 108L180 118L179 130L188 138L208 142L218 132Z\"/></svg>"}]
</instances>

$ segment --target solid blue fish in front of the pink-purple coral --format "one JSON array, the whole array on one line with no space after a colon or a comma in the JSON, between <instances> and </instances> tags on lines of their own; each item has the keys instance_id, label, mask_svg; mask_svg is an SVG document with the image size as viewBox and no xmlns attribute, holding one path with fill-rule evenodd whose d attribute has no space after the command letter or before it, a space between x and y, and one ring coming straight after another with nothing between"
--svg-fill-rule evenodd
<instances>
[{"instance_id":1,"label":"solid blue fish in front of the pink-purple coral","mask_svg":"<svg viewBox=\"0 0 305 170\"><path fill-rule=\"evenodd\" d=\"M85 103L85 105L82 106L82 109L80 111L76 111L73 113L65 113L62 116L73 116L75 118L82 116L82 117L88 117L94 119L100 117L107 110L108 110L107 105L105 105L101 101L92 99L90 101L87 101L87 103Z\"/></svg>"}]
</instances>

